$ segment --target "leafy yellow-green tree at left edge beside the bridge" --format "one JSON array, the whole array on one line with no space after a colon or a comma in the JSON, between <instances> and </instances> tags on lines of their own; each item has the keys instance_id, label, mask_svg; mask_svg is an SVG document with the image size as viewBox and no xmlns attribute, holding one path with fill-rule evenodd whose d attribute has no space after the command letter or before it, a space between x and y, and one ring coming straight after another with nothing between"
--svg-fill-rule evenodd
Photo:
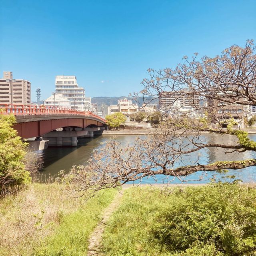
<instances>
[{"instance_id":1,"label":"leafy yellow-green tree at left edge beside the bridge","mask_svg":"<svg viewBox=\"0 0 256 256\"><path fill-rule=\"evenodd\" d=\"M0 190L31 180L24 164L27 143L12 128L15 123L13 115L0 115Z\"/></svg>"}]
</instances>

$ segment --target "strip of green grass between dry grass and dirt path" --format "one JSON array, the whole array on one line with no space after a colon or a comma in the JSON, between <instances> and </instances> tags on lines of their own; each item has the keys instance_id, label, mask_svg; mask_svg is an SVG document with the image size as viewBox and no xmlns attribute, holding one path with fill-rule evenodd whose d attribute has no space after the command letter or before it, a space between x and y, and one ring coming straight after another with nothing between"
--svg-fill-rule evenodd
<instances>
[{"instance_id":1,"label":"strip of green grass between dry grass and dirt path","mask_svg":"<svg viewBox=\"0 0 256 256\"><path fill-rule=\"evenodd\" d=\"M116 190L100 193L91 198L76 212L64 216L54 234L46 238L35 255L82 256L86 255L88 238L100 221L102 210L112 201Z\"/></svg>"}]
</instances>

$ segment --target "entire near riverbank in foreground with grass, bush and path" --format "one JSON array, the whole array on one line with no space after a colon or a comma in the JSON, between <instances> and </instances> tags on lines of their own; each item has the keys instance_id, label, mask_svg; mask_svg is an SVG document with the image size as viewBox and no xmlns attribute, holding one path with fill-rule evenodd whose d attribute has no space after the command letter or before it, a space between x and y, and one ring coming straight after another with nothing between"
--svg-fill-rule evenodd
<instances>
[{"instance_id":1,"label":"entire near riverbank in foreground with grass, bush and path","mask_svg":"<svg viewBox=\"0 0 256 256\"><path fill-rule=\"evenodd\" d=\"M83 202L67 196L61 184L32 183L0 200L0 255L88 255L89 244L97 239L104 256L222 255L217 250L236 250L244 240L251 247L240 244L243 254L236 255L255 252L256 208L251 203L256 200L255 184L200 185L128 185L124 196L107 190ZM227 249L216 240L215 248L214 239L219 237L232 246ZM173 249L174 240L187 243L177 243Z\"/></svg>"}]
</instances>

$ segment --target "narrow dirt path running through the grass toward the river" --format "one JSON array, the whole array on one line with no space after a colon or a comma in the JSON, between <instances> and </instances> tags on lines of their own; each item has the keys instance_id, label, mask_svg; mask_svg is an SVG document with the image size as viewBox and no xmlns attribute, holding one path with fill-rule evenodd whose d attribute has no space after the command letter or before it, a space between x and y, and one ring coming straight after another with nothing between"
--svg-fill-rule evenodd
<instances>
[{"instance_id":1,"label":"narrow dirt path running through the grass toward the river","mask_svg":"<svg viewBox=\"0 0 256 256\"><path fill-rule=\"evenodd\" d=\"M102 253L100 252L101 248L101 241L104 229L106 228L106 222L110 218L111 214L116 210L116 208L120 204L120 199L122 198L122 194L118 192L112 203L106 208L105 212L102 215L102 221L95 227L94 231L92 232L89 245L88 245L88 253L87 256L101 256Z\"/></svg>"}]
</instances>

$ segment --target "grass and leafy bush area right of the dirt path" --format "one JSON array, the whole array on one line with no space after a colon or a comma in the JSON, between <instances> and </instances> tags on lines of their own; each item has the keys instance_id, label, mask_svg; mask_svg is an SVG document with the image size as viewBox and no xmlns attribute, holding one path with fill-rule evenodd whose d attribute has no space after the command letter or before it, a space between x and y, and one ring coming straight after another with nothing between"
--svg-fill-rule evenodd
<instances>
[{"instance_id":1,"label":"grass and leafy bush area right of the dirt path","mask_svg":"<svg viewBox=\"0 0 256 256\"><path fill-rule=\"evenodd\" d=\"M103 237L105 256L256 255L256 190L132 188Z\"/></svg>"}]
</instances>

